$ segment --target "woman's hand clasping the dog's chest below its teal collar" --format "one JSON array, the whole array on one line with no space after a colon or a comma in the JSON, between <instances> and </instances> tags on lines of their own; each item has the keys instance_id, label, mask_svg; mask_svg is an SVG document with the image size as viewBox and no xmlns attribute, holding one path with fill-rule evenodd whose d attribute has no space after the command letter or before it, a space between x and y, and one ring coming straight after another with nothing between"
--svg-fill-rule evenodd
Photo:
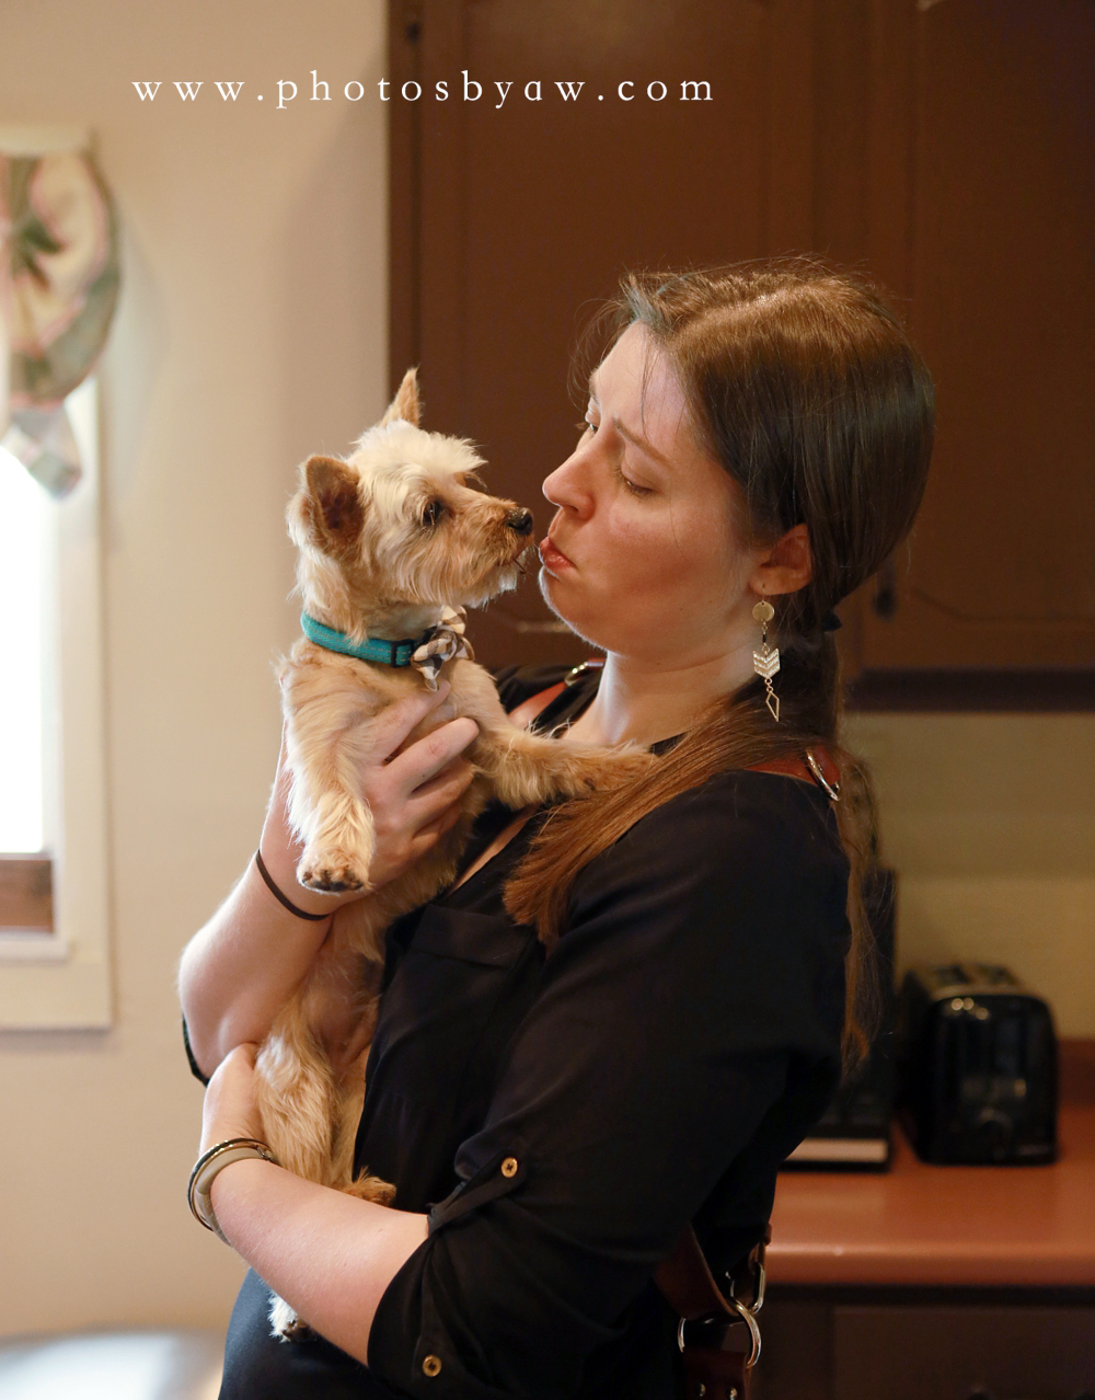
<instances>
[{"instance_id":1,"label":"woman's hand clasping the dog's chest below its teal collar","mask_svg":"<svg viewBox=\"0 0 1095 1400\"><path fill-rule=\"evenodd\" d=\"M448 694L449 685L444 682L437 693L406 696L370 721L360 792L372 812L375 829L377 846L368 871L374 889L402 875L459 819L459 801L475 777L472 764L461 755L479 734L479 727L466 717L452 718ZM407 742L427 724L438 728ZM297 883L302 848L288 823L288 784L283 743L262 832L262 855L272 878L307 913L333 911L360 899L360 890L323 895Z\"/></svg>"}]
</instances>

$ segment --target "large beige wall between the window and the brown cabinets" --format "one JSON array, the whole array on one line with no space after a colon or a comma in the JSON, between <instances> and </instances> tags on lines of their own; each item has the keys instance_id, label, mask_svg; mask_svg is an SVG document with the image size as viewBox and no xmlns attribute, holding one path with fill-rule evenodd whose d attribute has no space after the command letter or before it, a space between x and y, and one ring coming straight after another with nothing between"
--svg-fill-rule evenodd
<instances>
[{"instance_id":1,"label":"large beige wall between the window and the brown cabinets","mask_svg":"<svg viewBox=\"0 0 1095 1400\"><path fill-rule=\"evenodd\" d=\"M270 661L294 634L293 469L384 402L384 13L3 4L0 122L91 126L126 231L104 372L116 1023L0 1035L4 1333L221 1324L241 1277L185 1207L202 1091L174 974L258 836ZM330 102L307 101L311 69ZM281 112L279 77L301 88ZM164 83L153 106L132 87L146 78ZM197 78L183 105L171 83ZM234 106L218 78L245 81Z\"/></svg>"}]
</instances>

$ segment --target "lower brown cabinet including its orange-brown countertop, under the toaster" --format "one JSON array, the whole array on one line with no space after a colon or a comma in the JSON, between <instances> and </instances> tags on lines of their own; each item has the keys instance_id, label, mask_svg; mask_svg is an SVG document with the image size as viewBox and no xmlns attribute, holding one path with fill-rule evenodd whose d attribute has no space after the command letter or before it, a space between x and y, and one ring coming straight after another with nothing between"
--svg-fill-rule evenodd
<instances>
[{"instance_id":1,"label":"lower brown cabinet including its orange-brown countertop, under the toaster","mask_svg":"<svg viewBox=\"0 0 1095 1400\"><path fill-rule=\"evenodd\" d=\"M1061 1040L1060 1158L786 1172L756 1400L1095 1397L1095 1042Z\"/></svg>"}]
</instances>

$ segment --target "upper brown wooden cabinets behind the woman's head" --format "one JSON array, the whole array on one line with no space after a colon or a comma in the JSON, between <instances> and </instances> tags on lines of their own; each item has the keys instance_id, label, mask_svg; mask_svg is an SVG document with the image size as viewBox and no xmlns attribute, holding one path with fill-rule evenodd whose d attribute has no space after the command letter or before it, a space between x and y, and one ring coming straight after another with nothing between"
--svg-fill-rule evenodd
<instances>
[{"instance_id":1,"label":"upper brown wooden cabinets behind the woman's head","mask_svg":"<svg viewBox=\"0 0 1095 1400\"><path fill-rule=\"evenodd\" d=\"M536 505L574 440L571 347L622 270L809 251L863 269L907 311L940 419L910 546L843 609L851 669L899 694L919 675L920 701L949 676L955 703L968 672L1042 675L1035 703L1061 672L1091 693L1089 0L392 0L391 18L392 378L421 365L427 426L483 444L491 484ZM710 101L685 87L704 81ZM585 654L531 587L473 634L489 662Z\"/></svg>"}]
</instances>

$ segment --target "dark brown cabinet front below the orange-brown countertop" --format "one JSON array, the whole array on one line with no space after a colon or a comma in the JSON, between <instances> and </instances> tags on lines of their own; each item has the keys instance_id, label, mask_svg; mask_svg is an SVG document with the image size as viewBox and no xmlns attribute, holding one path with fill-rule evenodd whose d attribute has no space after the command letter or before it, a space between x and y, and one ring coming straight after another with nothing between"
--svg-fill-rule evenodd
<instances>
[{"instance_id":1,"label":"dark brown cabinet front below the orange-brown countertop","mask_svg":"<svg viewBox=\"0 0 1095 1400\"><path fill-rule=\"evenodd\" d=\"M833 1400L1071 1400L1095 1389L1091 1308L836 1308Z\"/></svg>"}]
</instances>

